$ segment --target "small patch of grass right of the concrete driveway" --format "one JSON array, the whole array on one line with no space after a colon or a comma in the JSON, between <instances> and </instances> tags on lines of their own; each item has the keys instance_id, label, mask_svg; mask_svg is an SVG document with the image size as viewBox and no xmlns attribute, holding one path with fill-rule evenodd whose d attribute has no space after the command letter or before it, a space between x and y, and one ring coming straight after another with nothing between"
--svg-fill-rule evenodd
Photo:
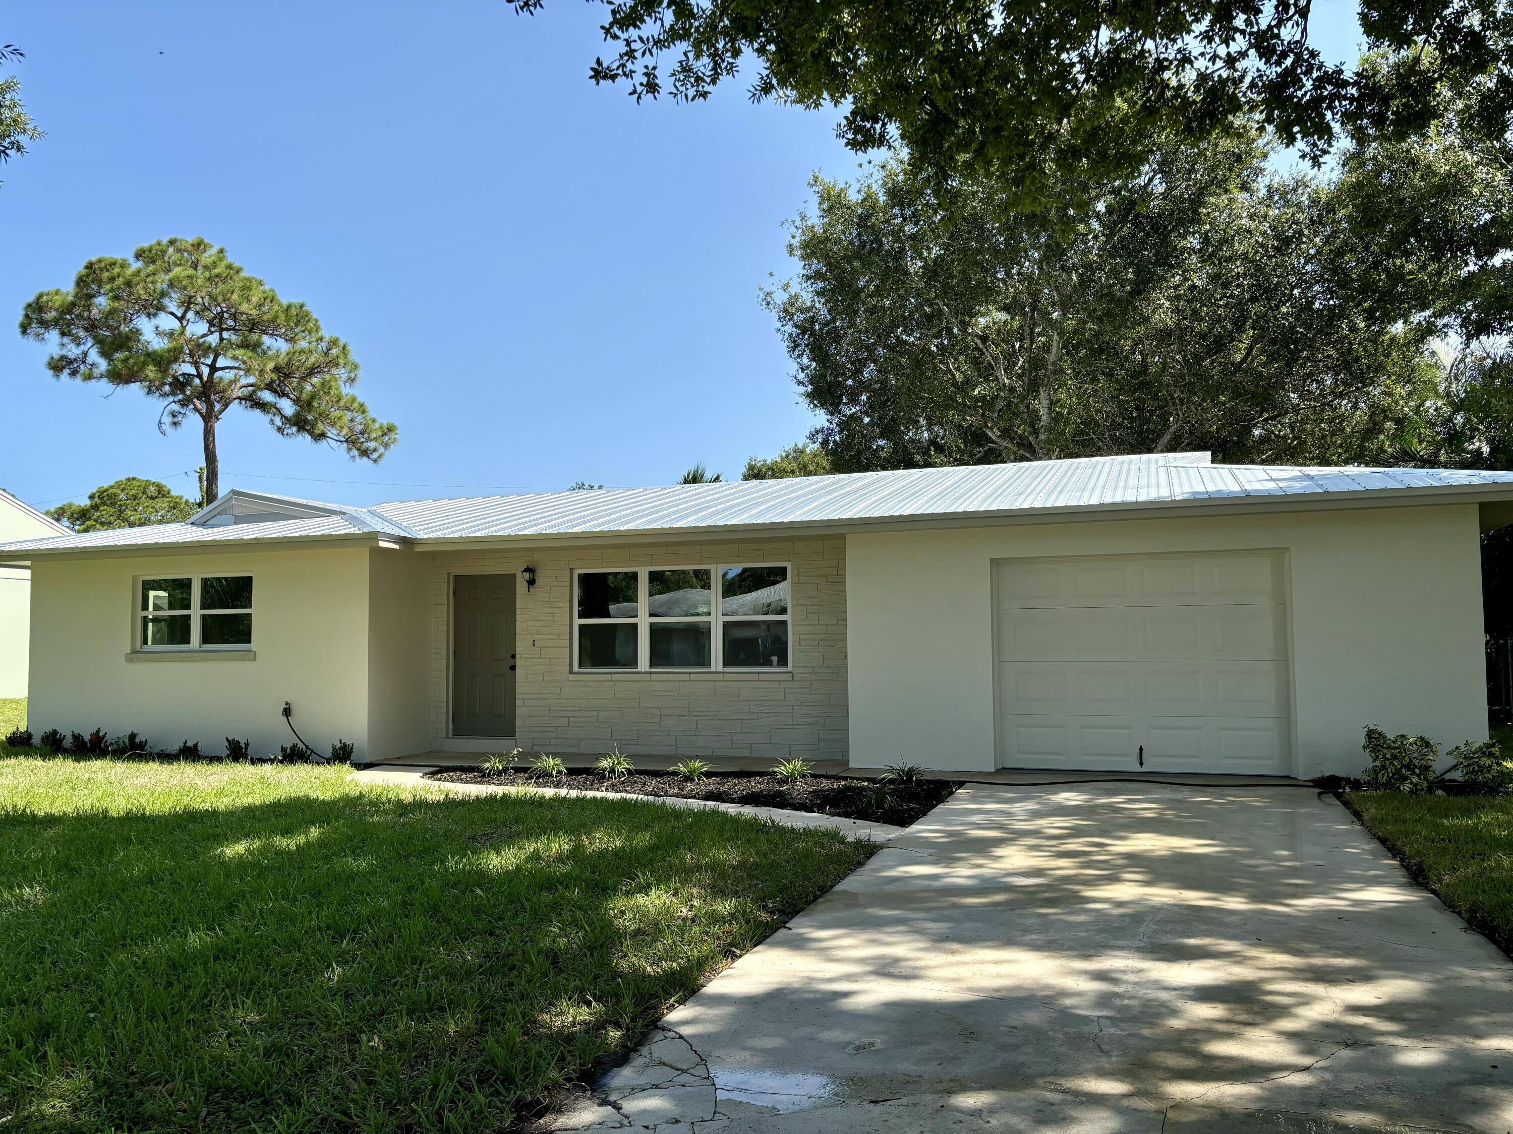
<instances>
[{"instance_id":1,"label":"small patch of grass right of the concrete driveway","mask_svg":"<svg viewBox=\"0 0 1513 1134\"><path fill-rule=\"evenodd\" d=\"M1347 798L1409 872L1513 951L1513 798L1401 792Z\"/></svg>"}]
</instances>

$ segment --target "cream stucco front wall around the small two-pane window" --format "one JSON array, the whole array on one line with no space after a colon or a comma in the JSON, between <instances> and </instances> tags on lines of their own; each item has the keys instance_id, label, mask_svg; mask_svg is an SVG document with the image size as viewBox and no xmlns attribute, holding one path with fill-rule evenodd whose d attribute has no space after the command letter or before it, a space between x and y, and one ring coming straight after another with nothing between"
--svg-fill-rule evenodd
<instances>
[{"instance_id":1,"label":"cream stucco front wall around the small two-pane window","mask_svg":"<svg viewBox=\"0 0 1513 1134\"><path fill-rule=\"evenodd\" d=\"M295 727L318 751L345 738L363 758L368 555L366 547L250 549L33 562L30 729L135 729L154 745L191 739L207 753L222 751L231 735L266 753L294 741L280 717L287 700ZM216 572L253 575L256 659L201 652L127 661L133 579Z\"/></svg>"}]
</instances>

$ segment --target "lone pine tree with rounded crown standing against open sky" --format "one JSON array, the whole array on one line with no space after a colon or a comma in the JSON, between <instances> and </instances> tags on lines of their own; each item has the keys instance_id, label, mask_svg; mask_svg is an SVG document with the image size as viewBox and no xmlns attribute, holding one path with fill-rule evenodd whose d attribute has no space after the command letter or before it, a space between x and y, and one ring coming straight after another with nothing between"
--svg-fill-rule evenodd
<instances>
[{"instance_id":1,"label":"lone pine tree with rounded crown standing against open sky","mask_svg":"<svg viewBox=\"0 0 1513 1134\"><path fill-rule=\"evenodd\" d=\"M378 461L398 429L351 393L357 361L310 308L231 263L201 237L89 260L70 292L41 292L21 334L57 351L54 378L136 387L163 402L159 429L195 416L204 438L206 502L219 496L215 429L231 407L263 414L283 437L309 437Z\"/></svg>"}]
</instances>

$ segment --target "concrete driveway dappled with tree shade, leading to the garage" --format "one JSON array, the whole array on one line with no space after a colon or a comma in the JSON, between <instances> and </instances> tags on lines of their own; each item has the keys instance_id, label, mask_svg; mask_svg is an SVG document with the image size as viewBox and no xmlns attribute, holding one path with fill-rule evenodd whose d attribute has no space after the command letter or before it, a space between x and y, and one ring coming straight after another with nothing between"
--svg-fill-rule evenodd
<instances>
[{"instance_id":1,"label":"concrete driveway dappled with tree shade, leading to the garage","mask_svg":"<svg viewBox=\"0 0 1513 1134\"><path fill-rule=\"evenodd\" d=\"M1513 1129L1513 965L1304 788L968 788L552 1129Z\"/></svg>"}]
</instances>

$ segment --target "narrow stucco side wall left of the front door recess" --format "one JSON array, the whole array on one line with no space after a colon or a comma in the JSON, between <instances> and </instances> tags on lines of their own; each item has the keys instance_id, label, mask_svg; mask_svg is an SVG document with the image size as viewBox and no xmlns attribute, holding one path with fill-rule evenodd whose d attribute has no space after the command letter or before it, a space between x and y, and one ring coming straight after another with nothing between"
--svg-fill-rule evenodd
<instances>
[{"instance_id":1,"label":"narrow stucco side wall left of the front door recess","mask_svg":"<svg viewBox=\"0 0 1513 1134\"><path fill-rule=\"evenodd\" d=\"M431 747L431 556L368 552L368 759Z\"/></svg>"}]
</instances>

